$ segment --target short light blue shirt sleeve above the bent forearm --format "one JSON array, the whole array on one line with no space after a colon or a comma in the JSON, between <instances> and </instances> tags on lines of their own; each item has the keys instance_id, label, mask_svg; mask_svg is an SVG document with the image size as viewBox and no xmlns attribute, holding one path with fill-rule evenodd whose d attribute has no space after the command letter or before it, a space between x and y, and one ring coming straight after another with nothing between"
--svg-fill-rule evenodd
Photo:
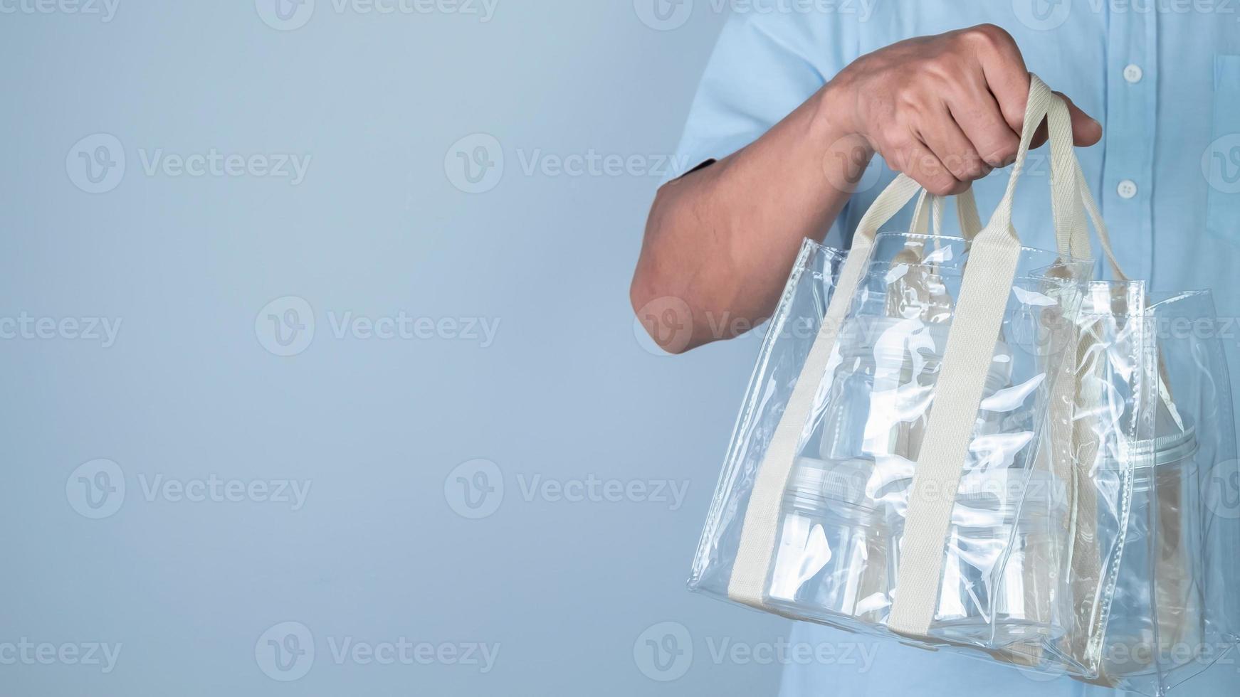
<instances>
[{"instance_id":1,"label":"short light blue shirt sleeve above the bent forearm","mask_svg":"<svg viewBox=\"0 0 1240 697\"><path fill-rule=\"evenodd\" d=\"M676 151L680 175L758 140L856 59L856 22L841 14L729 16Z\"/></svg>"}]
</instances>

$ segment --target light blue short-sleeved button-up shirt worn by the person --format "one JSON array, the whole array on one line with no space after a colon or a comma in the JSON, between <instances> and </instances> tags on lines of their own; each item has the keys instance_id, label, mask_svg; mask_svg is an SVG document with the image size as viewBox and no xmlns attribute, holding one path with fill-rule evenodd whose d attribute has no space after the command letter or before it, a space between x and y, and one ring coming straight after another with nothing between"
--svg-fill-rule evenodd
<instances>
[{"instance_id":1,"label":"light blue short-sleeved button-up shirt worn by the person","mask_svg":"<svg viewBox=\"0 0 1240 697\"><path fill-rule=\"evenodd\" d=\"M1104 142L1079 156L1128 275L1147 279L1156 291L1213 288L1219 314L1236 316L1240 0L754 0L751 7L738 5L729 17L677 161L692 166L753 142L862 54L914 36L992 22L1016 37L1030 71L1102 121ZM1034 154L1021 182L1016 225L1027 245L1053 249L1045 156L1045 149ZM872 170L827 234L828 245L846 246L894 177L880 162ZM999 170L976 184L983 218L998 203L1008 173ZM905 210L892 229L909 215ZM1105 276L1099 264L1099 277ZM1240 338L1233 334L1224 343L1236 394ZM791 628L791 641L875 646L806 623ZM1176 693L1240 695L1238 665L1216 665ZM880 643L872 662L790 662L781 695L1115 692Z\"/></svg>"}]
</instances>

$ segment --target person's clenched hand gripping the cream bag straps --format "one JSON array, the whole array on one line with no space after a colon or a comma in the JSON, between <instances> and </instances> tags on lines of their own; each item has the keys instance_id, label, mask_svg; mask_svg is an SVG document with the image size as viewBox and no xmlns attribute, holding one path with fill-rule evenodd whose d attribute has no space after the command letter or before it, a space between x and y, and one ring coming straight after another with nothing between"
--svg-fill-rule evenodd
<instances>
[{"instance_id":1,"label":"person's clenched hand gripping the cream bag straps","mask_svg":"<svg viewBox=\"0 0 1240 697\"><path fill-rule=\"evenodd\" d=\"M930 193L949 196L1016 158L1029 72L1008 32L980 25L862 56L820 98L821 116L851 134L835 149L878 152ZM1102 126L1070 100L1069 109L1076 145L1096 144Z\"/></svg>"}]
</instances>

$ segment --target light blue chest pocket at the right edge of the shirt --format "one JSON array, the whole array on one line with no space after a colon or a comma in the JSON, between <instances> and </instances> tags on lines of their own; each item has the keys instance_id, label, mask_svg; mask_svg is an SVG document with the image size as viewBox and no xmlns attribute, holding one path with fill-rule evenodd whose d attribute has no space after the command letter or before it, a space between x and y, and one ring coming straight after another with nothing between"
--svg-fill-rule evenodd
<instances>
[{"instance_id":1,"label":"light blue chest pocket at the right edge of the shirt","mask_svg":"<svg viewBox=\"0 0 1240 697\"><path fill-rule=\"evenodd\" d=\"M1207 228L1240 244L1240 56L1214 57L1213 141L1202 156Z\"/></svg>"}]
</instances>

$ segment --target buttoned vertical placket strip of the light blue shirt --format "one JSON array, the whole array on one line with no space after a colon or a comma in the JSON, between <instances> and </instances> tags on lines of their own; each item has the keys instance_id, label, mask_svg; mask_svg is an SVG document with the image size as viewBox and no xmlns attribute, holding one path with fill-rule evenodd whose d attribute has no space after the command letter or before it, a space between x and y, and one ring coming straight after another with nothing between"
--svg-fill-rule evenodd
<instances>
[{"instance_id":1,"label":"buttoned vertical placket strip of the light blue shirt","mask_svg":"<svg viewBox=\"0 0 1240 697\"><path fill-rule=\"evenodd\" d=\"M1135 279L1153 272L1157 12L1111 10L1107 19L1106 158L1102 209L1120 265Z\"/></svg>"}]
</instances>

